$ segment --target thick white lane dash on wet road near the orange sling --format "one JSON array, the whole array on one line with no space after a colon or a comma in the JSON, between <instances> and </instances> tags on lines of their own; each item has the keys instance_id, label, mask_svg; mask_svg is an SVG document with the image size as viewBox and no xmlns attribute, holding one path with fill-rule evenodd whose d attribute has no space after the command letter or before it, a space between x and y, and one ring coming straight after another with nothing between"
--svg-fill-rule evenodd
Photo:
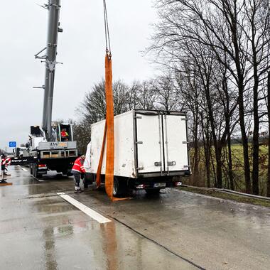
<instances>
[{"instance_id":1,"label":"thick white lane dash on wet road near the orange sling","mask_svg":"<svg viewBox=\"0 0 270 270\"><path fill-rule=\"evenodd\" d=\"M65 193L56 193L64 200L70 202L72 205L80 209L82 212L84 212L86 215L92 217L92 219L96 220L99 223L107 223L111 222L112 220L109 220L107 217L103 217L103 215L100 215L95 210L92 210L91 208L87 207L86 205L83 205L81 202L78 202L77 200L73 199L69 195L66 195Z\"/></svg>"}]
</instances>

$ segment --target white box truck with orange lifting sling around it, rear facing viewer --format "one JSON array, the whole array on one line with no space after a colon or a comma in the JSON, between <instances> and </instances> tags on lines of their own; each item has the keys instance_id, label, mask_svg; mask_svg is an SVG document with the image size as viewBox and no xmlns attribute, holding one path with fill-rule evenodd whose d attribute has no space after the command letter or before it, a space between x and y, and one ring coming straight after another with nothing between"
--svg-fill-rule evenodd
<instances>
[{"instance_id":1,"label":"white box truck with orange lifting sling around it, rear facing viewer","mask_svg":"<svg viewBox=\"0 0 270 270\"><path fill-rule=\"evenodd\" d=\"M85 187L95 181L104 121L91 126L85 159ZM106 168L106 145L102 180ZM114 195L127 189L159 193L180 185L175 175L190 175L187 118L184 112L134 109L114 117ZM174 181L175 180L175 181Z\"/></svg>"}]
</instances>

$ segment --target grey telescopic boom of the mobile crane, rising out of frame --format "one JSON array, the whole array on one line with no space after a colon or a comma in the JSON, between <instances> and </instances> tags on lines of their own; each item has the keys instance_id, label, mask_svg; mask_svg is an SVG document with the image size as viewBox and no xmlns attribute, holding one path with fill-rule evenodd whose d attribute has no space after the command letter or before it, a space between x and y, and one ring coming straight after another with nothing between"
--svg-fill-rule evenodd
<instances>
[{"instance_id":1,"label":"grey telescopic boom of the mobile crane, rising out of frame","mask_svg":"<svg viewBox=\"0 0 270 270\"><path fill-rule=\"evenodd\" d=\"M48 37L45 55L45 84L43 102L43 123L42 127L48 141L52 137L52 109L53 109L53 86L55 79L55 65L57 55L59 28L60 0L48 0Z\"/></svg>"}]
</instances>

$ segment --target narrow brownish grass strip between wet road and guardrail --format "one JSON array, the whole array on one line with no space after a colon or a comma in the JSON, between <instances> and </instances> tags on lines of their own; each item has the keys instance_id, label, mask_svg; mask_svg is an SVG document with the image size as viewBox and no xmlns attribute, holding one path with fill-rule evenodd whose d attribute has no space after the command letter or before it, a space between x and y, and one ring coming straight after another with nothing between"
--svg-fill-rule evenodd
<instances>
[{"instance_id":1,"label":"narrow brownish grass strip between wet road and guardrail","mask_svg":"<svg viewBox=\"0 0 270 270\"><path fill-rule=\"evenodd\" d=\"M208 195L215 198L225 199L225 200L234 200L236 202L243 202L243 203L249 203L252 205L261 205L265 207L270 207L270 201L269 200L261 200L257 198L248 198L241 195L235 195L235 194L229 194L229 193L222 193L215 190L201 190L198 188L190 188L190 187L179 187L179 190L185 190L193 193L199 193L202 195Z\"/></svg>"}]
</instances>

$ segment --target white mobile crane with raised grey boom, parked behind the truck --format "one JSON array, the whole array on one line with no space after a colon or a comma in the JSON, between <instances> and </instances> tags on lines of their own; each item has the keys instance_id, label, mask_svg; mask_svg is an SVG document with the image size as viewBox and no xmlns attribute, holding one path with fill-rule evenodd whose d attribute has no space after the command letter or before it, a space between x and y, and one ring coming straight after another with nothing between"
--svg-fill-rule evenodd
<instances>
[{"instance_id":1,"label":"white mobile crane with raised grey boom, parked behind the truck","mask_svg":"<svg viewBox=\"0 0 270 270\"><path fill-rule=\"evenodd\" d=\"M30 158L30 171L36 178L48 170L70 175L72 163L78 156L77 143L73 141L72 125L52 124L58 33L63 32L59 22L60 7L60 0L48 0L48 4L43 6L48 9L47 45L35 55L36 59L45 63L45 84L42 87L34 87L44 90L43 122L42 127L31 126L26 143L27 152L23 157ZM45 55L41 56L43 51Z\"/></svg>"}]
</instances>

